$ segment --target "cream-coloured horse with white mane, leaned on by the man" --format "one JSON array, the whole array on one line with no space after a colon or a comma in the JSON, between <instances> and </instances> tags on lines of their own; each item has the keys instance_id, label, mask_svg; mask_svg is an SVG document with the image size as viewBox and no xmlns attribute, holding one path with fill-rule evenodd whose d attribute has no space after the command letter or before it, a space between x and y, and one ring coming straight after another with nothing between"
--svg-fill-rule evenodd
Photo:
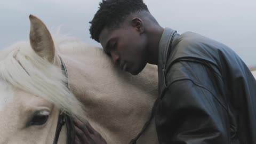
<instances>
[{"instance_id":1,"label":"cream-coloured horse with white mane, leaned on by the man","mask_svg":"<svg viewBox=\"0 0 256 144\"><path fill-rule=\"evenodd\" d=\"M52 143L60 109L87 119L108 143L129 143L157 98L157 68L149 65L132 76L102 49L65 36L53 41L41 20L30 15L30 23L30 43L0 52L0 143ZM63 127L59 143L65 137ZM157 143L154 122L138 143Z\"/></svg>"}]
</instances>

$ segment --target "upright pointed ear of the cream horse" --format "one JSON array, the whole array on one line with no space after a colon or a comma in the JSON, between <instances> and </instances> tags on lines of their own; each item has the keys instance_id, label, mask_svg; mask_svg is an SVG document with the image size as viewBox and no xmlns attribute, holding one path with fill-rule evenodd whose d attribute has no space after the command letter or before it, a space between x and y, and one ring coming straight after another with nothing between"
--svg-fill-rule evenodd
<instances>
[{"instance_id":1,"label":"upright pointed ear of the cream horse","mask_svg":"<svg viewBox=\"0 0 256 144\"><path fill-rule=\"evenodd\" d=\"M42 58L53 62L55 49L52 36L44 23L34 15L29 15L29 40L33 50Z\"/></svg>"}]
</instances>

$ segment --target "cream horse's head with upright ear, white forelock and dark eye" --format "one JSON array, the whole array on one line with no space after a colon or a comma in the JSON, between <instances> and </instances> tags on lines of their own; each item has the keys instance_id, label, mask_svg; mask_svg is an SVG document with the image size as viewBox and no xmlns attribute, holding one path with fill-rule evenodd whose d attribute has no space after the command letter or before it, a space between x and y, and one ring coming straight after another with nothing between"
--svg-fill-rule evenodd
<instances>
[{"instance_id":1,"label":"cream horse's head with upright ear, white forelock and dark eye","mask_svg":"<svg viewBox=\"0 0 256 144\"><path fill-rule=\"evenodd\" d=\"M83 114L65 85L60 60L44 23L30 19L30 43L0 52L0 143L53 143L60 111ZM65 129L59 143L66 143Z\"/></svg>"}]
</instances>

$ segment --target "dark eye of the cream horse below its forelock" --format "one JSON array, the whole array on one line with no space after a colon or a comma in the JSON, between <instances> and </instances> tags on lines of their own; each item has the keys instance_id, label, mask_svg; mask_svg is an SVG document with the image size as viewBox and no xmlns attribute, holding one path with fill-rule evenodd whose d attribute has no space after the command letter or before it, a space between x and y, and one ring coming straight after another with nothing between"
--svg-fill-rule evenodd
<instances>
[{"instance_id":1,"label":"dark eye of the cream horse below its forelock","mask_svg":"<svg viewBox=\"0 0 256 144\"><path fill-rule=\"evenodd\" d=\"M43 125L47 122L49 111L36 111L28 125Z\"/></svg>"}]
</instances>

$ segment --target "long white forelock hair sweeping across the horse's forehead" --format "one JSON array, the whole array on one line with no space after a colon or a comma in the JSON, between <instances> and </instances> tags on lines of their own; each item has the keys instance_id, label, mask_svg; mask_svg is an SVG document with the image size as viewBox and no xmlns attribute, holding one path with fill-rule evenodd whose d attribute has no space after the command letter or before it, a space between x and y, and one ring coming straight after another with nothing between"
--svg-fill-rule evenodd
<instances>
[{"instance_id":1,"label":"long white forelock hair sweeping across the horse's forehead","mask_svg":"<svg viewBox=\"0 0 256 144\"><path fill-rule=\"evenodd\" d=\"M57 39L56 47L68 43L64 37ZM0 51L0 80L46 99L73 116L84 115L82 104L65 85L67 79L61 68L39 57L29 42L15 43Z\"/></svg>"}]
</instances>

